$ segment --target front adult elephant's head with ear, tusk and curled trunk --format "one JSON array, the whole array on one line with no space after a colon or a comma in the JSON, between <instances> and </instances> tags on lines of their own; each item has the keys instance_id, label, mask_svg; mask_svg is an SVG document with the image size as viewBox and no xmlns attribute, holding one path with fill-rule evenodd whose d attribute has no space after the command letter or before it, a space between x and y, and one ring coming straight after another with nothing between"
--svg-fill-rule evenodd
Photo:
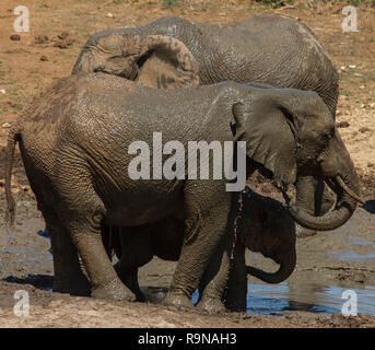
<instances>
[{"instance_id":1,"label":"front adult elephant's head with ear, tusk and curled trunk","mask_svg":"<svg viewBox=\"0 0 375 350\"><path fill-rule=\"evenodd\" d=\"M361 201L359 177L321 98L309 91L254 86L236 98L232 104L236 139L246 141L248 158L272 173L293 219L317 231L344 224ZM301 174L319 176L330 185L337 194L335 210L313 217L290 202L284 189Z\"/></svg>"}]
</instances>

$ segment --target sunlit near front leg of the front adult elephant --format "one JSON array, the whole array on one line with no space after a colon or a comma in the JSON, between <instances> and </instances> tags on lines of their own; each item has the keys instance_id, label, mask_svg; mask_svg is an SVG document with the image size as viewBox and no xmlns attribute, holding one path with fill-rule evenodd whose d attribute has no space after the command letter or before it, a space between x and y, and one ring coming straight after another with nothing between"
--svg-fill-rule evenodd
<instances>
[{"instance_id":1,"label":"sunlit near front leg of the front adult elephant","mask_svg":"<svg viewBox=\"0 0 375 350\"><path fill-rule=\"evenodd\" d=\"M185 241L164 301L164 304L177 307L192 307L191 294L199 288L202 275L225 234L232 197L222 187L215 188L218 185L211 182L204 185L202 182L190 182L189 185L191 188L185 189ZM200 198L197 198L197 194L200 194ZM204 194L203 198L201 194ZM202 200L208 200L211 206L204 206ZM213 202L215 207L212 207Z\"/></svg>"}]
</instances>

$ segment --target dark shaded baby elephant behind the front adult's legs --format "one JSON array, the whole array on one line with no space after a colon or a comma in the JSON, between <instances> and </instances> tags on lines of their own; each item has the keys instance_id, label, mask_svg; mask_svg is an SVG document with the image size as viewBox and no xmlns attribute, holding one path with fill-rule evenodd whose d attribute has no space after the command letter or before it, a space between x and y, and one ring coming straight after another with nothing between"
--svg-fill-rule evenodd
<instances>
[{"instance_id":1,"label":"dark shaded baby elephant behind the front adult's legs","mask_svg":"<svg viewBox=\"0 0 375 350\"><path fill-rule=\"evenodd\" d=\"M222 305L225 302L232 311L246 308L247 272L269 283L285 280L294 270L295 257L295 223L283 206L268 197L260 196L247 188L239 195L241 210L235 220L236 250L231 261L228 284L220 279L220 256L212 259L206 270L199 288L209 294L199 302ZM238 212L237 212L238 213ZM112 246L119 261L115 269L125 283L136 295L138 301L145 301L138 283L138 268L151 261L154 256L164 260L177 261L184 241L184 221L168 219L139 228L122 228L121 234L112 232ZM228 228L231 230L231 228ZM106 230L108 233L108 230ZM107 235L108 236L108 235ZM225 244L225 243L223 243ZM108 245L108 242L107 244ZM245 248L261 253L265 257L280 264L276 272L265 272L255 267L246 267ZM227 287L227 289L225 288ZM214 294L214 295L213 295ZM206 295L206 294L204 294ZM216 306L218 306L216 305ZM210 310L204 305L206 310Z\"/></svg>"}]
</instances>

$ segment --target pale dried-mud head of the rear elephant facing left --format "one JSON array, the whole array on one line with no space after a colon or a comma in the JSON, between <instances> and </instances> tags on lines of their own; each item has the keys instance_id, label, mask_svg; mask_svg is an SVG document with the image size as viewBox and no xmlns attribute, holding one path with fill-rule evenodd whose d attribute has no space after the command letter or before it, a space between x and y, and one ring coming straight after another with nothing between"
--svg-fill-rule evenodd
<instances>
[{"instance_id":1,"label":"pale dried-mud head of the rear elephant facing left","mask_svg":"<svg viewBox=\"0 0 375 350\"><path fill-rule=\"evenodd\" d=\"M151 88L199 85L198 63L181 42L162 35L141 38L113 32L91 36L72 73L106 72Z\"/></svg>"}]
</instances>

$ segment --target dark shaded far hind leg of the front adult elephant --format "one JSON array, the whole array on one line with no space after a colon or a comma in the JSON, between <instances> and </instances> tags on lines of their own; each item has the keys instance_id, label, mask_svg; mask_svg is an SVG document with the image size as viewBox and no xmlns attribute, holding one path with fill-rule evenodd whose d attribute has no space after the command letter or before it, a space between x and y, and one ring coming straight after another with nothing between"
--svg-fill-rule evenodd
<instances>
[{"instance_id":1,"label":"dark shaded far hind leg of the front adult elephant","mask_svg":"<svg viewBox=\"0 0 375 350\"><path fill-rule=\"evenodd\" d=\"M56 217L47 217L46 228L50 234L54 256L52 291L89 296L91 285L82 272L79 256L69 233L61 225L58 225Z\"/></svg>"}]
</instances>

